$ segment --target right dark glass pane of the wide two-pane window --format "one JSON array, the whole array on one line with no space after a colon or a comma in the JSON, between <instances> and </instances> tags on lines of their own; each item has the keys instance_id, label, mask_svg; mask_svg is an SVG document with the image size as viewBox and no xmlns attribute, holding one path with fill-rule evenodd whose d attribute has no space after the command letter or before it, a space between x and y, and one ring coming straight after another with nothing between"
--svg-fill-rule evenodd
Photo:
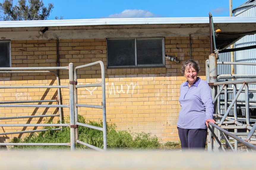
<instances>
[{"instance_id":1,"label":"right dark glass pane of the wide two-pane window","mask_svg":"<svg viewBox=\"0 0 256 170\"><path fill-rule=\"evenodd\" d=\"M163 64L162 39L137 40L137 64Z\"/></svg>"}]
</instances>

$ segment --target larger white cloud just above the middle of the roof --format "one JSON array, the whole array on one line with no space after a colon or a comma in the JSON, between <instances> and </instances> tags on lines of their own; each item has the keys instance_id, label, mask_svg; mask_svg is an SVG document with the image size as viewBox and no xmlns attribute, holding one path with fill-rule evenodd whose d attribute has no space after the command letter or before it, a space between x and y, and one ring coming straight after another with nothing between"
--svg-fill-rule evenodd
<instances>
[{"instance_id":1,"label":"larger white cloud just above the middle of the roof","mask_svg":"<svg viewBox=\"0 0 256 170\"><path fill-rule=\"evenodd\" d=\"M147 10L142 9L125 9L123 12L118 14L111 14L104 18L152 18L159 17Z\"/></svg>"}]
</instances>

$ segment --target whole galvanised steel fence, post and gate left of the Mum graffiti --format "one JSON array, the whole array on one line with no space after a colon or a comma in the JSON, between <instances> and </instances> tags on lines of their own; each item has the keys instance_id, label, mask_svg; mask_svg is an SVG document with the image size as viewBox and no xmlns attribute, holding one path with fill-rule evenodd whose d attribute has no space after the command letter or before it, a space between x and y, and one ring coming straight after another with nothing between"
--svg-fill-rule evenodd
<instances>
[{"instance_id":1,"label":"whole galvanised steel fence, post and gate left of the Mum graffiti","mask_svg":"<svg viewBox=\"0 0 256 170\"><path fill-rule=\"evenodd\" d=\"M78 70L91 67L94 65L100 65L101 68L101 83L92 83L89 85L77 85L77 73ZM69 72L69 85L60 85L60 79L58 72L60 70L67 70ZM12 120L12 119L33 119L33 118L44 118L44 117L59 117L60 123L41 123L38 122L37 124L30 124L29 122L26 124L1 124L1 127L60 127L56 129L51 130L61 130L62 127L70 127L70 142L69 143L0 143L1 146L7 146L7 145L37 145L37 146L43 146L43 145L56 145L56 146L70 146L71 150L75 150L75 143L80 143L82 145L86 145L89 148L95 149L95 150L106 150L107 149L107 133L106 133L106 97L105 97L105 69L104 64L102 61L96 61L90 64L85 64L82 66L75 67L73 63L69 63L69 66L67 67L15 67L15 68L0 68L0 73L3 74L53 74L56 77L57 85L0 85L0 89L7 90L8 89L57 89L57 97L52 100L44 100L44 97L41 97L40 100L16 100L16 101L0 101L0 107L3 108L35 108L35 112L38 108L45 108L45 113L41 115L36 115L34 112L31 113L28 116L11 116L11 117L0 117L1 120ZM15 81L15 80L14 80ZM87 105L87 104L80 104L78 103L78 96L77 96L77 90L79 88L85 88L85 87L101 87L102 89L102 102L101 105ZM69 90L69 104L63 105L61 102L61 88L68 89ZM46 93L46 92L45 92ZM53 104L53 102L57 102L57 104ZM91 126L89 124L84 124L78 122L78 108L79 107L89 107L89 108L97 108L102 109L102 122L103 127L96 127ZM59 114L47 114L48 108L57 108L59 111ZM62 123L63 120L63 113L62 108L68 108L69 109L69 116L70 116L70 123ZM84 126L89 127L92 129L97 129L103 132L103 149L98 148L96 146L90 145L88 143L85 143L83 141L78 140L78 126ZM0 135L11 135L11 134L23 134L23 133L32 133L32 132L42 132L46 131L48 129L33 129L33 130L25 130L26 128L23 128L22 131L16 131L16 132L3 132L0 133Z\"/></svg>"}]
</instances>

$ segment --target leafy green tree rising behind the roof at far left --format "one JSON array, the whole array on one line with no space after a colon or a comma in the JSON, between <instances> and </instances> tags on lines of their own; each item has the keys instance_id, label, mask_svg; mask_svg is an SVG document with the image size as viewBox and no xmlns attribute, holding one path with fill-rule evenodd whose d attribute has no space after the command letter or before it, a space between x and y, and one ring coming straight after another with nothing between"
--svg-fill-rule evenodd
<instances>
[{"instance_id":1,"label":"leafy green tree rising behind the roof at far left","mask_svg":"<svg viewBox=\"0 0 256 170\"><path fill-rule=\"evenodd\" d=\"M53 4L45 7L42 0L4 0L0 3L1 18L4 21L46 20L52 12Z\"/></svg>"}]
</instances>

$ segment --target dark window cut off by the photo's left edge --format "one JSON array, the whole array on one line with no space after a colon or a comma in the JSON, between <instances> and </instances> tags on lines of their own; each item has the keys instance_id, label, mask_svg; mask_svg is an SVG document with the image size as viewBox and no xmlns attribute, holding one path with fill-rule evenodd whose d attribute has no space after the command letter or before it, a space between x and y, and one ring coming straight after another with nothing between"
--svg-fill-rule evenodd
<instances>
[{"instance_id":1,"label":"dark window cut off by the photo's left edge","mask_svg":"<svg viewBox=\"0 0 256 170\"><path fill-rule=\"evenodd\" d=\"M11 67L11 42L0 41L0 67Z\"/></svg>"}]
</instances>

